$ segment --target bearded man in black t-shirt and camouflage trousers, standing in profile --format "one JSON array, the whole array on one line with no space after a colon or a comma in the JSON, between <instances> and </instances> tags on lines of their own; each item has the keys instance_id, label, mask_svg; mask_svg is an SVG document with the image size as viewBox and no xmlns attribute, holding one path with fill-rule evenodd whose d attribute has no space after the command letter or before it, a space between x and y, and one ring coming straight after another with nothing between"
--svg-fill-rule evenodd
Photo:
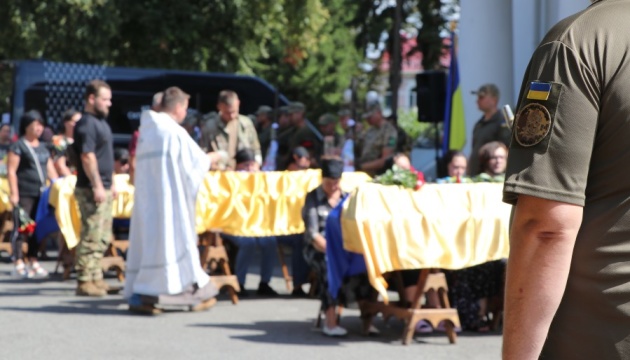
<instances>
[{"instance_id":1,"label":"bearded man in black t-shirt and camouflage trousers, standing in profile","mask_svg":"<svg viewBox=\"0 0 630 360\"><path fill-rule=\"evenodd\" d=\"M112 236L114 149L112 132L105 120L111 99L107 83L101 80L88 83L85 111L74 128L72 146L81 158L74 190L81 211L76 263L79 296L104 296L108 290L100 261Z\"/></svg>"}]
</instances>

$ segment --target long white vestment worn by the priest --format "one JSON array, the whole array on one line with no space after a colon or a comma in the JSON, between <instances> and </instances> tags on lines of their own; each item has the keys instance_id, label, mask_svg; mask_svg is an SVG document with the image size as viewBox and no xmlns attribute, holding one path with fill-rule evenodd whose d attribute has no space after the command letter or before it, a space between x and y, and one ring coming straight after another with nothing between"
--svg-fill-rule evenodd
<instances>
[{"instance_id":1,"label":"long white vestment worn by the priest","mask_svg":"<svg viewBox=\"0 0 630 360\"><path fill-rule=\"evenodd\" d=\"M195 231L197 191L210 159L168 114L143 111L124 297L206 286Z\"/></svg>"}]
</instances>

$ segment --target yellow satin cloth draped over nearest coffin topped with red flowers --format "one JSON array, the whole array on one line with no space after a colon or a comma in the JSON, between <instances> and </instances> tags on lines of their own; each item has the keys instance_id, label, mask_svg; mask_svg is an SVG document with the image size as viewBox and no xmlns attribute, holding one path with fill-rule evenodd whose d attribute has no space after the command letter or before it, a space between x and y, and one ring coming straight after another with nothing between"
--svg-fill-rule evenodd
<instances>
[{"instance_id":1,"label":"yellow satin cloth draped over nearest coffin topped with red flowers","mask_svg":"<svg viewBox=\"0 0 630 360\"><path fill-rule=\"evenodd\" d=\"M460 269L507 258L511 206L501 201L502 188L362 184L344 204L344 248L364 254L370 283L385 298L389 271Z\"/></svg>"}]
</instances>

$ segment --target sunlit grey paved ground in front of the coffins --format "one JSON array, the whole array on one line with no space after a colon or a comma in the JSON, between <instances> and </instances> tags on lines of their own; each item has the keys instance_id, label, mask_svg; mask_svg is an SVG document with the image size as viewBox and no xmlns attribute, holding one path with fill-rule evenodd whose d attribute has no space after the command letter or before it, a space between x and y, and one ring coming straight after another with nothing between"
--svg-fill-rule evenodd
<instances>
[{"instance_id":1,"label":"sunlit grey paved ground in front of the coffins","mask_svg":"<svg viewBox=\"0 0 630 360\"><path fill-rule=\"evenodd\" d=\"M5 255L5 254L2 254ZM251 297L232 305L226 296L202 313L132 315L120 295L74 296L76 282L58 276L21 280L0 260L0 359L497 359L498 333L462 333L450 345L443 334L400 342L402 322L377 319L378 337L362 337L357 310L344 311L343 339L314 328L319 302L287 295L278 274L272 287L282 296ZM50 270L54 261L44 262ZM246 287L255 289L251 270ZM109 278L110 284L116 284Z\"/></svg>"}]
</instances>

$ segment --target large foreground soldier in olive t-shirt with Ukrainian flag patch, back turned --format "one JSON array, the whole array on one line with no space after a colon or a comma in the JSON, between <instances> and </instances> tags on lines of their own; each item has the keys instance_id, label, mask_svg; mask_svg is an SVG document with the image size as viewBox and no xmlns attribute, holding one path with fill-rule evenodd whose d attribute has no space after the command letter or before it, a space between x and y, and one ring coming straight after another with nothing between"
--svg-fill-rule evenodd
<instances>
[{"instance_id":1,"label":"large foreground soldier in olive t-shirt with Ukrainian flag patch, back turned","mask_svg":"<svg viewBox=\"0 0 630 360\"><path fill-rule=\"evenodd\" d=\"M514 204L504 359L630 356L630 0L554 26L525 72L505 174Z\"/></svg>"}]
</instances>

